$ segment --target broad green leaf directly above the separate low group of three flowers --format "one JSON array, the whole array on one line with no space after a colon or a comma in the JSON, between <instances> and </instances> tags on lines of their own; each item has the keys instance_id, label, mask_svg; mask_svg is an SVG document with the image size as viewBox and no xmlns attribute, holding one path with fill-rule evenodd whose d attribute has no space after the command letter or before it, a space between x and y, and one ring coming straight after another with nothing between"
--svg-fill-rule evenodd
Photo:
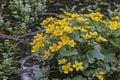
<instances>
[{"instance_id":1,"label":"broad green leaf directly above the separate low group of three flowers","mask_svg":"<svg viewBox=\"0 0 120 80\"><path fill-rule=\"evenodd\" d=\"M72 56L77 55L78 51L77 49L66 49L65 47L61 48L59 50L60 56Z\"/></svg>"}]
</instances>

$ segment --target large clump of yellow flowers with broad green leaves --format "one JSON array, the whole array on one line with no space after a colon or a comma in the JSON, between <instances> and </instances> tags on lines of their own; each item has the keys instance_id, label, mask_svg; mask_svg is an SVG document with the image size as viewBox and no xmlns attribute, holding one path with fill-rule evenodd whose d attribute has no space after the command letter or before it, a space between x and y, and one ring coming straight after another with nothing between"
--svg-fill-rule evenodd
<instances>
[{"instance_id":1,"label":"large clump of yellow flowers with broad green leaves","mask_svg":"<svg viewBox=\"0 0 120 80\"><path fill-rule=\"evenodd\" d=\"M49 66L57 67L61 74L103 80L103 75L97 74L111 71L109 63L115 61L115 52L105 45L110 41L115 43L110 39L112 35L120 36L116 33L120 30L119 21L119 16L105 20L100 12L64 12L57 18L46 18L41 23L45 33L34 36L32 52L43 55L46 61L53 63Z\"/></svg>"}]
</instances>

